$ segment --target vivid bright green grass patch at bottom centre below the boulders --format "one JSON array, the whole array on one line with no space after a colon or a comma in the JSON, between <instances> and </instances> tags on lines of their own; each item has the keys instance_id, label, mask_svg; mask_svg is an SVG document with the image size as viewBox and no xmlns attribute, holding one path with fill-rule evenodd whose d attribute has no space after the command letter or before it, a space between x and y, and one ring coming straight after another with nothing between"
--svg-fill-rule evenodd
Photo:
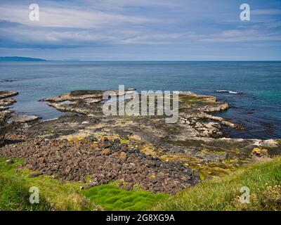
<instances>
[{"instance_id":1,"label":"vivid bright green grass patch at bottom centre below the boulders","mask_svg":"<svg viewBox=\"0 0 281 225\"><path fill-rule=\"evenodd\" d=\"M149 191L126 191L115 184L104 184L83 191L84 195L104 210L149 210L169 195Z\"/></svg>"}]
</instances>

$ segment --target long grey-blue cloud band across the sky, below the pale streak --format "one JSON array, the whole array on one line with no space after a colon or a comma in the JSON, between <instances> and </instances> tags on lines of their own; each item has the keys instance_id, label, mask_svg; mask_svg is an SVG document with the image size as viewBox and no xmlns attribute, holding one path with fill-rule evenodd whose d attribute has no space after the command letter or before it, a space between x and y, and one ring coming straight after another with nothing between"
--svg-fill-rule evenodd
<instances>
[{"instance_id":1,"label":"long grey-blue cloud band across the sky, below the pale streak","mask_svg":"<svg viewBox=\"0 0 281 225\"><path fill-rule=\"evenodd\" d=\"M1 21L0 21L1 25ZM115 44L202 44L236 43L253 41L280 41L278 31L249 29L223 30L221 32L183 31L167 32L147 27L128 27L123 30L105 28L73 29L54 27L30 27L18 23L0 26L0 46L30 48L74 48L81 46L108 46ZM259 27L259 26L258 26Z\"/></svg>"}]
</instances>

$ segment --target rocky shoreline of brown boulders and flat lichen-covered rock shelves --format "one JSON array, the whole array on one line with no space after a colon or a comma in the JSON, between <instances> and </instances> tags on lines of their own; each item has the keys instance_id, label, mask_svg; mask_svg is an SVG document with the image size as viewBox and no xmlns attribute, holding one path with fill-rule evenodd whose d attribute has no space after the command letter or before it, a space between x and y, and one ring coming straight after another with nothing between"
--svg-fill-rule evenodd
<instances>
[{"instance_id":1,"label":"rocky shoreline of brown boulders and flat lichen-covered rock shelves","mask_svg":"<svg viewBox=\"0 0 281 225\"><path fill-rule=\"evenodd\" d=\"M0 156L24 158L32 176L81 181L84 188L119 180L122 188L176 193L281 153L280 141L226 138L223 127L244 127L209 114L228 109L214 96L180 92L179 120L166 124L162 116L103 115L103 91L45 98L66 114L39 121L6 108L15 103L11 94L0 93Z\"/></svg>"}]
</instances>

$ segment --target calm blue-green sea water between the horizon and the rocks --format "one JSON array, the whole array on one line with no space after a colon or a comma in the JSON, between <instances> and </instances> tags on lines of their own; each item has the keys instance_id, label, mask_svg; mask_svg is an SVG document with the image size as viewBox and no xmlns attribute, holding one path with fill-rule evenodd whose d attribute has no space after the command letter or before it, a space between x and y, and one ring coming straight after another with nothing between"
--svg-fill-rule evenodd
<instances>
[{"instance_id":1,"label":"calm blue-green sea water between the horizon and the rocks","mask_svg":"<svg viewBox=\"0 0 281 225\"><path fill-rule=\"evenodd\" d=\"M219 115L248 127L230 136L281 138L281 62L0 63L0 90L20 92L14 110L43 119L60 113L41 98L78 89L118 89L119 84L214 95L231 106Z\"/></svg>"}]
</instances>

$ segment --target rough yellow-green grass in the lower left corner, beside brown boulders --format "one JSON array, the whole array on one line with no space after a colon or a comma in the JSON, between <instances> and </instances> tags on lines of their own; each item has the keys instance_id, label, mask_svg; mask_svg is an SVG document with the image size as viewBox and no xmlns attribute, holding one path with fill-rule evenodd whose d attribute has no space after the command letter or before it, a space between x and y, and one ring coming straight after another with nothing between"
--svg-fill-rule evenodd
<instances>
[{"instance_id":1,"label":"rough yellow-green grass in the lower left corner, beside brown boulders","mask_svg":"<svg viewBox=\"0 0 281 225\"><path fill-rule=\"evenodd\" d=\"M0 210L93 210L93 203L79 193L79 184L60 184L49 176L32 178L27 169L17 169L23 160L13 159L11 165L6 160L0 159ZM39 188L39 204L29 202L32 186Z\"/></svg>"}]
</instances>

